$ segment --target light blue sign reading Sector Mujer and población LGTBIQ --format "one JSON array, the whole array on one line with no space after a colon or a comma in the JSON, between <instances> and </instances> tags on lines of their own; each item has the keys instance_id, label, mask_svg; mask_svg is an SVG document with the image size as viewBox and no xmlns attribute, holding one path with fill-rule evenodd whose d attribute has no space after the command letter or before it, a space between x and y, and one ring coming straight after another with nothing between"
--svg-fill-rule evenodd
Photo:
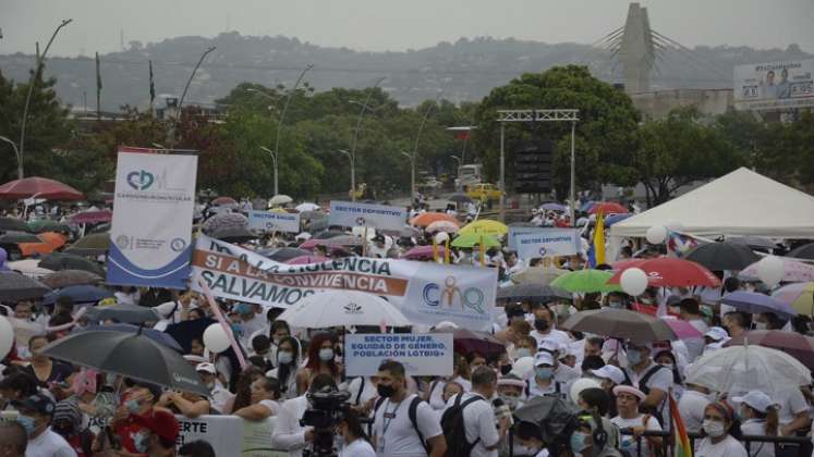
<instances>
[{"instance_id":1,"label":"light blue sign reading Sector Mujer and poblaci\u00f3n LGTBIQ","mask_svg":"<svg viewBox=\"0 0 814 457\"><path fill-rule=\"evenodd\" d=\"M398 360L411 376L452 374L451 333L376 333L344 336L344 372L369 376L385 360Z\"/></svg>"}]
</instances>

